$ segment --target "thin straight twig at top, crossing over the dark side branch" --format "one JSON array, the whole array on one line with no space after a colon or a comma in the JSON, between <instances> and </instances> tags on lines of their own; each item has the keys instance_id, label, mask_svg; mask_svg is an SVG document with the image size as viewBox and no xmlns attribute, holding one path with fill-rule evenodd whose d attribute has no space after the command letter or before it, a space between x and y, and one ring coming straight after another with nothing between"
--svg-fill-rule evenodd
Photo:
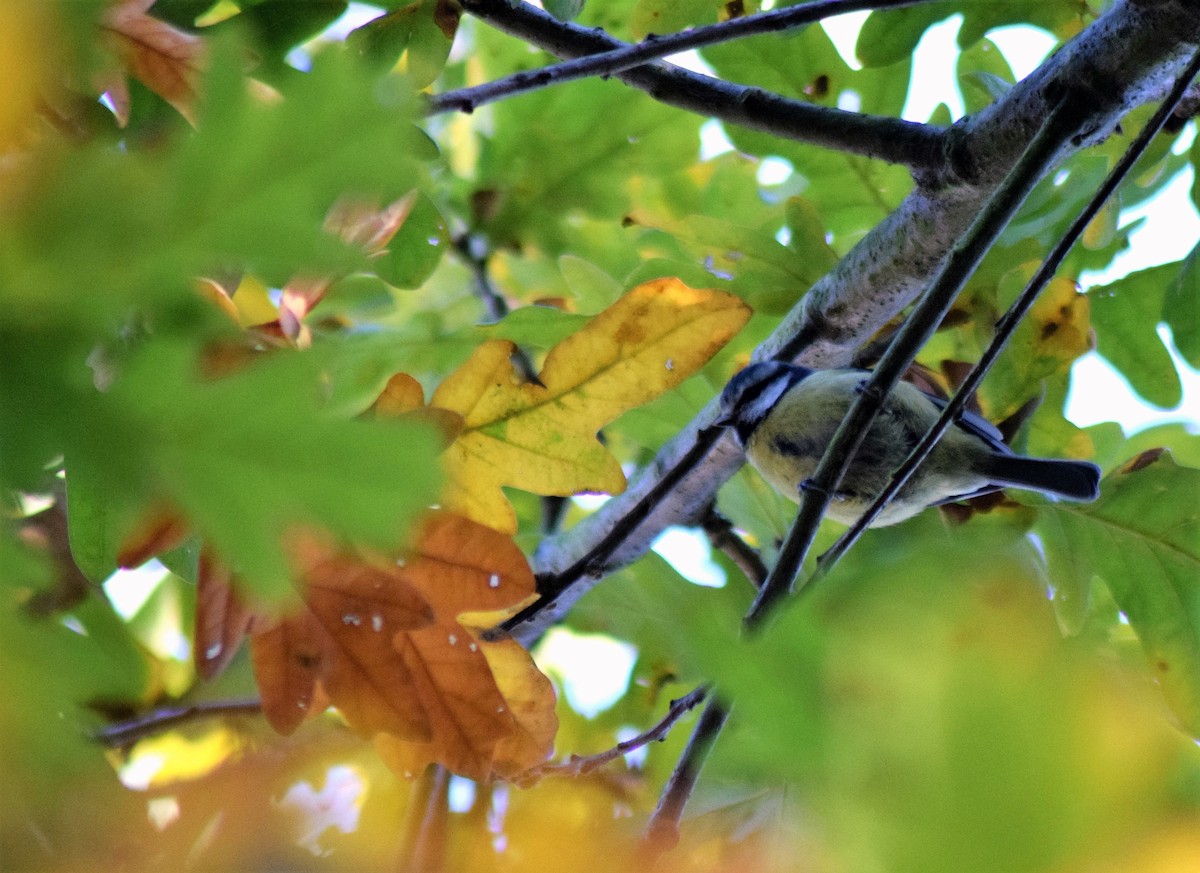
<instances>
[{"instance_id":1,"label":"thin straight twig at top, crossing over the dark side branch","mask_svg":"<svg viewBox=\"0 0 1200 873\"><path fill-rule=\"evenodd\" d=\"M540 70L526 70L482 85L439 94L430 101L428 110L440 113L457 109L470 113L497 100L592 76L607 78L694 48L732 42L760 34L778 34L846 12L916 6L920 2L929 2L929 0L811 0L770 12L731 18L719 24L691 28L677 34L650 34L644 41L636 44L622 44L620 48L608 52L575 58ZM469 2L467 8L470 8Z\"/></svg>"}]
</instances>

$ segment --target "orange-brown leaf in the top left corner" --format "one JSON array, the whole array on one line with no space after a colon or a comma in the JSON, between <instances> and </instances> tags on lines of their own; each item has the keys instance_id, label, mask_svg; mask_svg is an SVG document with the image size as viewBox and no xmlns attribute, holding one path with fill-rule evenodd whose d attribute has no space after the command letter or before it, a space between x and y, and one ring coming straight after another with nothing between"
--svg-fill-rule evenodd
<instances>
[{"instance_id":1,"label":"orange-brown leaf in the top left corner","mask_svg":"<svg viewBox=\"0 0 1200 873\"><path fill-rule=\"evenodd\" d=\"M194 125L204 43L149 16L154 2L119 0L104 14L103 26L125 70Z\"/></svg>"}]
</instances>

